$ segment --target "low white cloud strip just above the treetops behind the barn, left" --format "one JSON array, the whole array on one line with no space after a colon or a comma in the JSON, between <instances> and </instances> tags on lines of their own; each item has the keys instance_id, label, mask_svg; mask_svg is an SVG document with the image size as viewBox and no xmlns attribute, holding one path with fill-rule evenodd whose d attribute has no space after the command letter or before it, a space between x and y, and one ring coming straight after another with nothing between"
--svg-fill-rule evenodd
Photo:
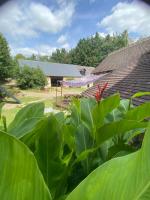
<instances>
[{"instance_id":1,"label":"low white cloud strip just above the treetops behind the barn, left","mask_svg":"<svg viewBox=\"0 0 150 200\"><path fill-rule=\"evenodd\" d=\"M11 46L11 54L12 55L21 53L25 56L31 56L32 54L44 56L44 55L51 55L52 52L54 52L55 50L56 50L56 47L51 47L49 45L40 45L35 48Z\"/></svg>"}]
</instances>

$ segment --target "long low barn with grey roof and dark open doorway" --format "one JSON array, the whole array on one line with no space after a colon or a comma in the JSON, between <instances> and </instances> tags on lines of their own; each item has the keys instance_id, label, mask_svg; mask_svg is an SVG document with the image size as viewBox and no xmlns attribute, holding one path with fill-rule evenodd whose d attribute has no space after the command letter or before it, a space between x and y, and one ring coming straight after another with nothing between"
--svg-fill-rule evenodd
<instances>
[{"instance_id":1,"label":"long low barn with grey roof and dark open doorway","mask_svg":"<svg viewBox=\"0 0 150 200\"><path fill-rule=\"evenodd\" d=\"M93 70L91 67L32 60L19 60L19 65L20 67L25 65L33 68L39 67L46 75L49 87L59 86L59 82L62 80L79 78L89 74Z\"/></svg>"}]
</instances>

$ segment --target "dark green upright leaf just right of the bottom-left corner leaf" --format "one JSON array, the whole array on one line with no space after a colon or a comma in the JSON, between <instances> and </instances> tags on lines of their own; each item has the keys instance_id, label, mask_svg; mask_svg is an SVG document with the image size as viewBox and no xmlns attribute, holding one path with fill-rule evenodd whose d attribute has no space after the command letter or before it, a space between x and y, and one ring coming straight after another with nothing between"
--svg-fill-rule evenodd
<instances>
[{"instance_id":1,"label":"dark green upright leaf just right of the bottom-left corner leaf","mask_svg":"<svg viewBox=\"0 0 150 200\"><path fill-rule=\"evenodd\" d=\"M35 157L54 199L64 194L67 188L66 158L64 162L61 159L62 139L61 124L57 116L46 117L38 129L37 139L35 137Z\"/></svg>"}]
</instances>

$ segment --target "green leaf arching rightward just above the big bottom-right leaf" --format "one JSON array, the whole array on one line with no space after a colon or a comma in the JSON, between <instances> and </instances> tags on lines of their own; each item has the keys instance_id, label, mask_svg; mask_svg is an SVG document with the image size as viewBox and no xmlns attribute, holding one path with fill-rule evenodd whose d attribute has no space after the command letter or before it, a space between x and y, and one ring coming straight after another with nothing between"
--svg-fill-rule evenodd
<instances>
[{"instance_id":1,"label":"green leaf arching rightward just above the big bottom-right leaf","mask_svg":"<svg viewBox=\"0 0 150 200\"><path fill-rule=\"evenodd\" d=\"M104 141L108 140L109 138L115 135L125 134L130 130L134 130L137 128L145 128L146 126L147 126L146 122L137 122L126 119L106 124L101 128L99 128L96 133L97 145L102 144Z\"/></svg>"}]
</instances>

